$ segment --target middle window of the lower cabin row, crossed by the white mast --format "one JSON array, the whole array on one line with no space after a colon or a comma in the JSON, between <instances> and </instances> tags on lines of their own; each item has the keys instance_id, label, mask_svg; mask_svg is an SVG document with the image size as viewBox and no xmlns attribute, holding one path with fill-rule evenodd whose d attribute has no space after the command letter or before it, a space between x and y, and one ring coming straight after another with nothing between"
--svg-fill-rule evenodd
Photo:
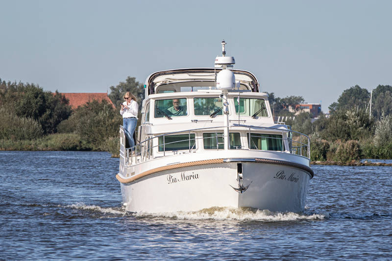
<instances>
[{"instance_id":1,"label":"middle window of the lower cabin row, crossed by the white mast","mask_svg":"<svg viewBox=\"0 0 392 261\"><path fill-rule=\"evenodd\" d=\"M203 133L204 149L223 149L223 133ZM229 133L230 149L241 149L241 138L239 133Z\"/></svg>"}]
</instances>

